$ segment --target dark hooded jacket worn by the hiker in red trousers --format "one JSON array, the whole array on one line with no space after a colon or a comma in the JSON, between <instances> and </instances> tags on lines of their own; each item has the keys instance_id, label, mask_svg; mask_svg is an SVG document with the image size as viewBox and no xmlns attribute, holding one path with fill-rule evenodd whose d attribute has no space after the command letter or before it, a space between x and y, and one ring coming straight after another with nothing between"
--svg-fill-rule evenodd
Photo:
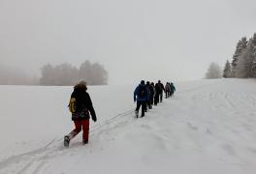
<instances>
[{"instance_id":1,"label":"dark hooded jacket worn by the hiker in red trousers","mask_svg":"<svg viewBox=\"0 0 256 174\"><path fill-rule=\"evenodd\" d=\"M72 114L73 121L89 119L90 115L93 121L96 121L96 114L93 108L89 94L86 92L86 86L76 85L71 98L77 101L77 112Z\"/></svg>"}]
</instances>

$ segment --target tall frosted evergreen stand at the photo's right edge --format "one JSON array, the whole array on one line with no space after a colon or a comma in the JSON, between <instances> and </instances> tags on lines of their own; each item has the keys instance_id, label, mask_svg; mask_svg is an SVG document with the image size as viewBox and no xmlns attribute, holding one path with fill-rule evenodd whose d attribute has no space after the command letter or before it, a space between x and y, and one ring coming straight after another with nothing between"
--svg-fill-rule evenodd
<instances>
[{"instance_id":1,"label":"tall frosted evergreen stand at the photo's right edge","mask_svg":"<svg viewBox=\"0 0 256 174\"><path fill-rule=\"evenodd\" d=\"M232 63L226 62L223 77L256 78L256 33L249 40L240 39Z\"/></svg>"}]
</instances>

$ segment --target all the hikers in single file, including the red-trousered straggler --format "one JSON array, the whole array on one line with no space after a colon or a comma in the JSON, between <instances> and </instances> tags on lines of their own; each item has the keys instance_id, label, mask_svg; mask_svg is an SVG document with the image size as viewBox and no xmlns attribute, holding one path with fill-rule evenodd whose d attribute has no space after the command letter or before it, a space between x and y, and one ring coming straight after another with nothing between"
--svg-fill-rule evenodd
<instances>
[{"instance_id":1,"label":"all the hikers in single file, including the red-trousered straggler","mask_svg":"<svg viewBox=\"0 0 256 174\"><path fill-rule=\"evenodd\" d=\"M89 139L89 120L90 118L96 122L97 117L93 104L87 91L87 84L81 80L74 86L74 91L69 102L69 110L72 113L72 121L75 124L75 129L64 136L64 146L69 147L70 140L73 139L82 130L82 144L87 144ZM139 116L139 109L142 106L142 117L144 112L152 108L152 105L157 105L163 101L163 92L166 98L172 97L176 88L173 83L167 82L164 86L160 80L156 84L144 80L134 92L134 102L137 101L136 116Z\"/></svg>"}]
</instances>

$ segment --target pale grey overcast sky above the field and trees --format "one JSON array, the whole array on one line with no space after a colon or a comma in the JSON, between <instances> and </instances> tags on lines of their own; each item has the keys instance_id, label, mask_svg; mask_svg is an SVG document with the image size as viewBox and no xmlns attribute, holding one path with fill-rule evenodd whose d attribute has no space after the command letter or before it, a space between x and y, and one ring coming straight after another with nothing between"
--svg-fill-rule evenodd
<instances>
[{"instance_id":1,"label":"pale grey overcast sky above the field and trees","mask_svg":"<svg viewBox=\"0 0 256 174\"><path fill-rule=\"evenodd\" d=\"M201 79L256 32L255 0L0 0L0 64L99 62L110 84Z\"/></svg>"}]
</instances>

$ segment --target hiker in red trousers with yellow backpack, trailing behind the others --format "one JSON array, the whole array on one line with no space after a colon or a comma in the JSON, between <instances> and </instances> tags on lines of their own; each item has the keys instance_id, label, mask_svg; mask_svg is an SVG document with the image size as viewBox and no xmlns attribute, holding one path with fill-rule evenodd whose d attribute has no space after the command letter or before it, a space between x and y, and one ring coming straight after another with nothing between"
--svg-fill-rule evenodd
<instances>
[{"instance_id":1,"label":"hiker in red trousers with yellow backpack, trailing behind the others","mask_svg":"<svg viewBox=\"0 0 256 174\"><path fill-rule=\"evenodd\" d=\"M89 139L89 119L96 122L97 117L90 99L86 92L86 82L80 81L74 87L71 95L69 109L72 113L72 121L75 124L75 130L64 136L64 146L68 147L70 140L73 139L82 129L82 144L87 144Z\"/></svg>"}]
</instances>

